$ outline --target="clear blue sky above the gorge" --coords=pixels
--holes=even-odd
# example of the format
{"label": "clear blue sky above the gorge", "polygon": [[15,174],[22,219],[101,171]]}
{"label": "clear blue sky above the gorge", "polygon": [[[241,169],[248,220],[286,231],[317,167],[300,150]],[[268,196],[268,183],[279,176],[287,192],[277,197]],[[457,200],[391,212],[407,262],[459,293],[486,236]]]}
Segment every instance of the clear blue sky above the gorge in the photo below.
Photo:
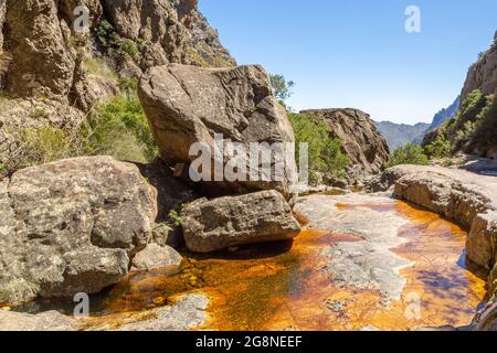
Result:
{"label": "clear blue sky above the gorge", "polygon": [[[408,6],[421,33],[406,33]],[[239,64],[296,82],[292,108],[360,108],[430,121],[497,30],[496,0],[200,0]]]}

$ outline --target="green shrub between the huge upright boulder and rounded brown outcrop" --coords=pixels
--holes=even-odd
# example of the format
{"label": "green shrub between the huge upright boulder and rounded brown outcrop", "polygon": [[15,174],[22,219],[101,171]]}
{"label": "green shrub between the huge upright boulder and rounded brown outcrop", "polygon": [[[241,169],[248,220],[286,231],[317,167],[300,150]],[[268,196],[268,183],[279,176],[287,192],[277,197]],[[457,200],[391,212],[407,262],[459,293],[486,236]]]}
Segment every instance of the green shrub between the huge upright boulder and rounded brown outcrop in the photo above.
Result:
{"label": "green shrub between the huge upright boulder and rounded brown outcrop", "polygon": [[319,182],[319,174],[330,180],[342,178],[349,163],[348,157],[342,151],[339,140],[329,136],[325,124],[316,124],[313,117],[299,114],[288,114],[295,132],[296,161],[299,163],[298,143],[308,143],[309,181],[313,184]]}

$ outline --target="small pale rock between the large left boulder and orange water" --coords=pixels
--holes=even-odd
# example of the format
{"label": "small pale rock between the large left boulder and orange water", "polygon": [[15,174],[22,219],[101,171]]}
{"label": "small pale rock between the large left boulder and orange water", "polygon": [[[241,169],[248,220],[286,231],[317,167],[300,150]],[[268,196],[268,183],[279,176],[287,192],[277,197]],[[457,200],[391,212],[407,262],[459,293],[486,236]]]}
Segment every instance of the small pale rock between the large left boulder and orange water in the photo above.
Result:
{"label": "small pale rock between the large left boulder and orange water", "polygon": [[172,247],[149,244],[135,256],[133,266],[144,271],[162,267],[179,268],[182,259]]}

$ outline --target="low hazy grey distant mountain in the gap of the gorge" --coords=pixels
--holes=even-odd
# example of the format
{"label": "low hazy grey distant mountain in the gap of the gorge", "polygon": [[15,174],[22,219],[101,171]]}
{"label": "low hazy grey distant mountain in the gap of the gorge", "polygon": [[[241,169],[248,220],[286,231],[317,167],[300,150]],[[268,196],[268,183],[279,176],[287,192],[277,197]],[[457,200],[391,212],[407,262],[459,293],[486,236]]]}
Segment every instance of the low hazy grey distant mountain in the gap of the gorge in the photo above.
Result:
{"label": "low hazy grey distant mountain in the gap of the gorge", "polygon": [[394,124],[391,121],[376,122],[378,130],[387,139],[390,151],[398,147],[408,143],[420,145],[426,130],[431,127],[430,124],[420,122],[416,125]]}

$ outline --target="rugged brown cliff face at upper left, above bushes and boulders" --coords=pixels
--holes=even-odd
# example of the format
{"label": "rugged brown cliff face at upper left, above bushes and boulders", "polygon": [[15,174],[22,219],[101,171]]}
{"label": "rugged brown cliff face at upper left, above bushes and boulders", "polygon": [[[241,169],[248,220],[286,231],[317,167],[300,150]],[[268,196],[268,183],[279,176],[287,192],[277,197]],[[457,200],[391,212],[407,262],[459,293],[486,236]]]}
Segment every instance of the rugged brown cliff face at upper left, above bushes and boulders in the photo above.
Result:
{"label": "rugged brown cliff face at upper left, above bushes and boulders", "polygon": [[3,50],[13,58],[7,75],[11,94],[66,97],[77,84],[73,79],[81,64],[76,49],[96,47],[98,35],[104,35],[75,32],[74,10],[81,4],[89,10],[87,31],[107,21],[121,41],[136,46],[139,57],[134,57],[135,63],[126,56],[119,61],[128,61],[138,71],[168,62],[234,65],[215,30],[199,13],[195,0],[8,0],[0,4],[0,28],[6,18],[2,33],[7,33],[6,39],[0,38],[0,49],[6,44]]}

